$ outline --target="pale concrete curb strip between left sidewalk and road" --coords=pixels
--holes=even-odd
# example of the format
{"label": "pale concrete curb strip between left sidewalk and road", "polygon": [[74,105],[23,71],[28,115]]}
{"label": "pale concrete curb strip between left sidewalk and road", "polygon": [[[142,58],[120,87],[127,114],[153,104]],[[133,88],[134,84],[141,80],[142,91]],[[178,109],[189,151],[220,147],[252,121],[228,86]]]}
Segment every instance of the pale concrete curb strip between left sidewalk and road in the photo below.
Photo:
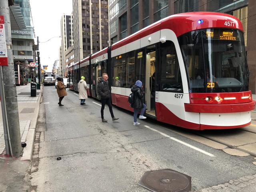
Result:
{"label": "pale concrete curb strip between left sidewalk and road", "polygon": [[22,158],[20,158],[21,161],[32,160],[32,154],[33,154],[34,143],[35,143],[36,124],[37,124],[40,101],[41,101],[42,91],[43,91],[42,89],[43,89],[43,86],[41,86],[40,94],[38,96],[39,102],[37,102],[38,103],[38,109],[36,110],[36,117],[34,118],[34,120],[31,120],[31,122],[30,122],[28,134],[27,134],[27,137],[26,137],[27,146],[23,149]]}

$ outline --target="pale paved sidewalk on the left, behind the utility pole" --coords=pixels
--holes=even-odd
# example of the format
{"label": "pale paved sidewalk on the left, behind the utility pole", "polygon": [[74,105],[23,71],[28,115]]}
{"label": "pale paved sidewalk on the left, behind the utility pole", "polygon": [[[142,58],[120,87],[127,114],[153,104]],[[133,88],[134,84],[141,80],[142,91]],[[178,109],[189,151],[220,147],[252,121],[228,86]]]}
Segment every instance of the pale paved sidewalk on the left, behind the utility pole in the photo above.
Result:
{"label": "pale paved sidewalk on the left, behind the utility pole", "polygon": [[[41,90],[36,90],[36,97],[30,96],[30,84],[25,86],[16,86],[18,112],[20,120],[21,142],[26,142],[27,146],[23,148],[21,160],[31,160],[34,144],[34,135],[36,121],[38,117]],[[0,108],[0,154],[5,149],[4,127],[2,119],[2,109]]]}

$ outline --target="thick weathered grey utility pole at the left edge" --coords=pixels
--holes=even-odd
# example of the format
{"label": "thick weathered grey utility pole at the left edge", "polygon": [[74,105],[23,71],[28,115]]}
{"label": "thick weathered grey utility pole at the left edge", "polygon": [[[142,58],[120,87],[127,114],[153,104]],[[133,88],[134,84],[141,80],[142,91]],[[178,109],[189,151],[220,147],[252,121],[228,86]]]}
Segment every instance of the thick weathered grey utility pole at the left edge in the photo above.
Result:
{"label": "thick weathered grey utility pole at the left edge", "polygon": [[0,71],[2,74],[1,82],[4,83],[2,85],[4,92],[3,97],[1,98],[1,105],[6,107],[5,111],[2,111],[3,117],[4,112],[6,114],[6,117],[5,119],[3,118],[3,121],[6,121],[8,130],[8,133],[5,132],[4,134],[8,134],[8,141],[10,144],[10,151],[6,151],[6,153],[13,157],[18,157],[22,154],[22,147],[20,140],[20,121],[12,55],[12,38],[8,0],[0,0],[0,15],[4,16],[4,28],[8,56],[8,66],[1,66],[2,70]]}

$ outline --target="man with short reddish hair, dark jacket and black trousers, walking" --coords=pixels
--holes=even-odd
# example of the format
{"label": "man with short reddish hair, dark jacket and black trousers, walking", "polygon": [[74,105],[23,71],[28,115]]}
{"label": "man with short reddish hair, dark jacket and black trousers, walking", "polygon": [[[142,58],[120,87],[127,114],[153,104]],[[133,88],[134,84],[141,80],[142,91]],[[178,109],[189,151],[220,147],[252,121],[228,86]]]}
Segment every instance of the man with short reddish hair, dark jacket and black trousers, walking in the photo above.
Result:
{"label": "man with short reddish hair, dark jacket and black trousers, walking", "polygon": [[98,78],[98,92],[101,97],[101,118],[102,122],[108,122],[108,120],[104,119],[104,108],[105,104],[108,105],[112,121],[118,120],[119,118],[115,118],[113,110],[112,110],[112,105],[111,105],[111,95],[110,95],[110,90],[108,87],[108,74],[104,73],[102,74],[102,78]]}

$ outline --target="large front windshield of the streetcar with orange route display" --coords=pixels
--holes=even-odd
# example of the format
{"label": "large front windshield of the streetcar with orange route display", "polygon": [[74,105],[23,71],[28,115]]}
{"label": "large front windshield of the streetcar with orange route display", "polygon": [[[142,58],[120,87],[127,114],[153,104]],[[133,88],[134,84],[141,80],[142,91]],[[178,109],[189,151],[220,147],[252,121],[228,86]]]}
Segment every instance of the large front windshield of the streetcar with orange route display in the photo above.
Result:
{"label": "large front windshield of the streetcar with orange route display", "polygon": [[178,38],[189,92],[248,90],[244,36],[234,29],[203,29]]}

